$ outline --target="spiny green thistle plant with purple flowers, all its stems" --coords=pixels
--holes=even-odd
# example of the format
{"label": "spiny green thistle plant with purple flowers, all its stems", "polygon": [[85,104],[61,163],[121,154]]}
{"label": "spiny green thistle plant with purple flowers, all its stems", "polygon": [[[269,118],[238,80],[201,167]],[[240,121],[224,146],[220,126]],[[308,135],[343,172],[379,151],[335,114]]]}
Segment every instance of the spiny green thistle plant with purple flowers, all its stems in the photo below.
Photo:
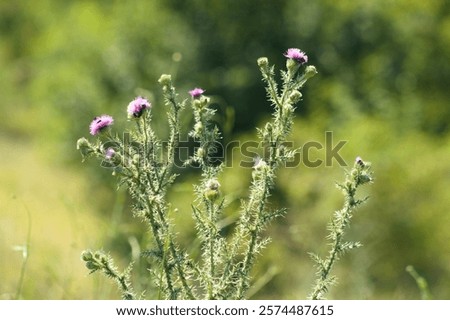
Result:
{"label": "spiny green thistle plant with purple flowers, all its stems", "polygon": [[[152,112],[159,108],[144,97],[137,97],[127,107],[131,129],[129,141],[122,141],[112,133],[114,120],[109,115],[96,117],[90,125],[94,142],[81,138],[77,142],[83,160],[96,157],[102,166],[109,167],[118,177],[119,186],[126,187],[132,200],[133,215],[147,226],[151,243],[142,255],[152,259],[149,281],[157,288],[154,297],[159,299],[245,299],[252,284],[252,269],[258,255],[268,244],[264,234],[273,219],[286,214],[286,209],[273,209],[269,198],[275,186],[277,170],[294,157],[298,150],[287,145],[292,130],[296,104],[301,100],[300,90],[317,71],[306,65],[307,55],[299,49],[289,49],[285,53],[286,70],[281,71],[281,86],[275,80],[274,67],[267,58],[258,59],[258,66],[266,85],[268,101],[273,106],[273,115],[262,128],[258,129],[260,145],[267,152],[254,161],[248,197],[241,202],[238,218],[231,232],[224,232],[222,219],[227,205],[226,196],[221,192],[220,175],[223,164],[213,161],[221,132],[213,124],[215,110],[205,90],[195,88],[189,91],[190,99],[179,99],[170,75],[162,75],[159,84],[166,105],[170,133],[167,143],[163,143],[152,128]],[[193,113],[194,125],[189,136],[197,146],[185,166],[195,165],[201,171],[201,178],[194,186],[194,199],[186,204],[183,211],[190,211],[196,225],[196,235],[200,240],[201,254],[193,257],[182,248],[174,231],[171,205],[167,193],[176,181],[175,158],[181,135],[180,113],[189,109]],[[362,160],[361,160],[362,161]],[[339,235],[330,236],[336,253],[327,263],[326,275],[318,287],[317,298],[328,287],[328,269],[331,269],[338,254],[347,244],[341,243],[341,233],[348,225],[350,213],[360,204],[355,200],[356,188],[369,179],[368,165],[358,164],[350,173],[356,180],[342,185],[346,190],[346,206],[333,222],[333,230]],[[355,171],[356,170],[356,171]],[[362,173],[365,172],[363,175]],[[366,178],[364,178],[366,177]],[[361,180],[362,179],[362,180]],[[369,179],[370,180],[370,179]],[[338,215],[338,214],[337,214]],[[131,283],[133,265],[119,271],[109,254],[103,251],[87,250],[82,260],[91,273],[101,272],[117,283],[124,299],[144,296],[136,293]],[[328,261],[328,260],[326,260]],[[321,284],[322,284],[321,282]]]}

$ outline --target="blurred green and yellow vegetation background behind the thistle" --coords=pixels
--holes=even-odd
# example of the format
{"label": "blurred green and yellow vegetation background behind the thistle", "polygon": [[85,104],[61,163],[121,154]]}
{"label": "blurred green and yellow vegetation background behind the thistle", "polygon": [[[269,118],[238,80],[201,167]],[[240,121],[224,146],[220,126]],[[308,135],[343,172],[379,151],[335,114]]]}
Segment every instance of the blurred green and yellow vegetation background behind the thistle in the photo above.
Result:
{"label": "blurred green and yellow vegetation background behind the thistle", "polygon": [[[110,172],[95,160],[81,164],[76,140],[102,113],[125,128],[137,94],[153,102],[164,136],[162,73],[182,97],[200,86],[218,101],[226,141],[254,139],[270,116],[256,59],[284,68],[289,47],[307,52],[319,71],[297,111],[295,144],[324,143],[332,131],[335,142],[348,141],[345,161],[372,161],[376,177],[348,234],[364,247],[340,261],[328,297],[419,299],[405,271],[413,265],[435,299],[450,299],[447,0],[1,1],[0,297],[119,298],[101,276],[87,276],[80,252],[103,248],[125,266],[145,247],[145,228]],[[247,194],[250,173],[238,161],[221,177],[229,212]],[[307,296],[307,252],[326,251],[344,169],[333,162],[280,171],[272,203],[288,215],[270,227],[252,299]],[[198,245],[189,215],[197,178],[187,172],[171,194],[179,242],[190,250]]]}

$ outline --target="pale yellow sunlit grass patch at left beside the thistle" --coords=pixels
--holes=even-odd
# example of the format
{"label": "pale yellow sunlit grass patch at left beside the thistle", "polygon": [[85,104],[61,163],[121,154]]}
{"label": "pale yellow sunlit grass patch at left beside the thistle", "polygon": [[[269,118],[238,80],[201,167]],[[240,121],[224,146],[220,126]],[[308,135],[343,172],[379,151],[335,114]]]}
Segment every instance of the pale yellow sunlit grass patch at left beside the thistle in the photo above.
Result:
{"label": "pale yellow sunlit grass patch at left beside the thistle", "polygon": [[0,137],[0,154],[0,297],[13,299],[19,291],[29,227],[17,298],[110,297],[109,284],[88,278],[80,261],[82,248],[97,244],[107,225],[89,205],[95,200],[85,197],[85,177],[43,162],[33,145],[21,140]]}

